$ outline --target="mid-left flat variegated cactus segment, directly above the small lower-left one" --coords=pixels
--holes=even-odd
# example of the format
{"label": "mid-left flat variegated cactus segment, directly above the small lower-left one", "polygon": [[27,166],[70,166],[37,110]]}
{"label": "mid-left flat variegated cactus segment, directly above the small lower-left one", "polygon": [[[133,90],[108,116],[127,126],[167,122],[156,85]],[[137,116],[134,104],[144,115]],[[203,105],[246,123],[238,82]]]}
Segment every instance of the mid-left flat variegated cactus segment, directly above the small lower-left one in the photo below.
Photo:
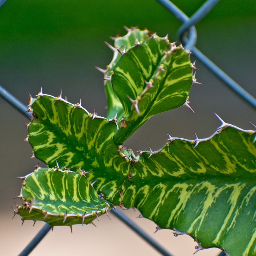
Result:
{"label": "mid-left flat variegated cactus segment, directly above the small lower-left one", "polygon": [[51,168],[63,166],[80,172],[78,166],[90,172],[87,178],[90,182],[97,180],[97,191],[118,205],[118,188],[131,168],[131,159],[125,154],[121,157],[113,142],[116,118],[102,118],[80,103],[71,104],[42,92],[28,107],[35,118],[27,125],[26,140],[34,156]]}

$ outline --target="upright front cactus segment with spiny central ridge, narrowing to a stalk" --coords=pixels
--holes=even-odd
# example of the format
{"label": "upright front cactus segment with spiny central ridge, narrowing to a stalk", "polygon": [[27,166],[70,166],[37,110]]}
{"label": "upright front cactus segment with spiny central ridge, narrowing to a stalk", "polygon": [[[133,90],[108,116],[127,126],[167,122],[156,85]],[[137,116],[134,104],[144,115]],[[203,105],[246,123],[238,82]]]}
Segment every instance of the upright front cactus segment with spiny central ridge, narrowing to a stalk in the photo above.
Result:
{"label": "upright front cactus segment with spiny central ridge, narrowing to a stalk", "polygon": [[156,34],[123,54],[111,76],[124,109],[114,142],[122,145],[151,116],[188,105],[193,68],[188,51]]}

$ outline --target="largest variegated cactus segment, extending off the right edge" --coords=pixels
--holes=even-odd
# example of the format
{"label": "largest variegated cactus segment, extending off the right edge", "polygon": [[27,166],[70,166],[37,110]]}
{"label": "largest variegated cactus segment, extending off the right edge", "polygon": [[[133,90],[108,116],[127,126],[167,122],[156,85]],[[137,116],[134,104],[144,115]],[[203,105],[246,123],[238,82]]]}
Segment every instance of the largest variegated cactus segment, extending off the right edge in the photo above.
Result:
{"label": "largest variegated cactus segment, extending off the right edge", "polygon": [[150,158],[143,152],[132,183],[120,188],[123,206],[136,207],[159,228],[190,234],[202,248],[255,256],[255,133],[222,121],[209,138],[173,138]]}

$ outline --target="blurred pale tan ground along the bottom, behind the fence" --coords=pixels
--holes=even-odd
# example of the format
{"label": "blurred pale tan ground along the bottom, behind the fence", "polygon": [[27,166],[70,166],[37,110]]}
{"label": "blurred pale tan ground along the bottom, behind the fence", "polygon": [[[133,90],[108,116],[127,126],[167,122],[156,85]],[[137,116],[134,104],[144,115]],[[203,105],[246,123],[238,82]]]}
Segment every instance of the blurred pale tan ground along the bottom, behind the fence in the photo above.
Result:
{"label": "blurred pale tan ground along the bottom, behind the fence", "polygon": [[[124,211],[123,211],[124,212]],[[173,256],[190,256],[195,252],[196,243],[187,235],[174,237],[171,230],[159,230],[155,234],[155,223],[144,218],[136,218],[138,211],[129,209],[125,211],[137,225],[141,226],[155,240],[161,243]],[[1,253],[0,255],[15,256],[35,236],[44,225],[43,222],[26,220],[21,226],[20,216],[12,220],[12,209],[1,214]],[[97,225],[74,225],[73,234],[69,227],[55,227],[53,232],[39,243],[31,252],[31,256],[45,255],[161,255],[121,221],[110,213],[111,220],[102,216]],[[216,256],[221,251],[217,248],[199,251],[197,256]]]}

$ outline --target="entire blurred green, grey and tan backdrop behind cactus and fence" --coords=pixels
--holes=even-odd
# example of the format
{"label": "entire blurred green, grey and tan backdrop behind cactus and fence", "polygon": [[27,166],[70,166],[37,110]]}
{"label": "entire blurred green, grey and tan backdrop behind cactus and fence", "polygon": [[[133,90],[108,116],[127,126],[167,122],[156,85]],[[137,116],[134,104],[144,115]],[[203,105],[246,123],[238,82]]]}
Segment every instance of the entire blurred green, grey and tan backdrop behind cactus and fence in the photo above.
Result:
{"label": "entire blurred green, grey and tan backdrop behind cactus and fence", "polygon": [[[203,0],[173,1],[191,16]],[[67,95],[71,103],[82,98],[82,105],[90,112],[95,108],[106,115],[106,100],[102,74],[94,66],[105,68],[112,59],[111,50],[104,41],[113,44],[109,36],[123,26],[138,26],[169,34],[177,41],[176,31],[181,23],[155,0],[8,0],[0,8],[0,84],[24,104],[28,93],[36,95],[42,86],[44,93]],[[255,0],[221,0],[211,12],[196,25],[196,47],[223,69],[244,89],[256,97]],[[194,61],[194,57],[191,59]],[[193,85],[190,106],[195,114],[182,107],[151,118],[136,131],[126,146],[134,150],[157,150],[166,143],[167,133],[173,137],[199,138],[211,135],[219,121],[244,129],[251,129],[249,121],[256,124],[255,110],[231,92],[199,61],[196,78],[204,85]],[[17,255],[43,223],[12,220],[18,199],[21,180],[34,170],[38,161],[32,149],[23,142],[27,135],[24,124],[28,120],[0,98],[0,200],[1,200],[1,255]],[[192,255],[195,243],[188,236],[174,237],[170,230],[156,234],[155,224],[136,218],[133,209],[124,212],[133,221],[158,240],[174,256]],[[159,255],[113,215],[111,220],[102,216],[92,225],[55,227],[31,255]],[[207,249],[197,255],[218,255],[218,249]]]}

